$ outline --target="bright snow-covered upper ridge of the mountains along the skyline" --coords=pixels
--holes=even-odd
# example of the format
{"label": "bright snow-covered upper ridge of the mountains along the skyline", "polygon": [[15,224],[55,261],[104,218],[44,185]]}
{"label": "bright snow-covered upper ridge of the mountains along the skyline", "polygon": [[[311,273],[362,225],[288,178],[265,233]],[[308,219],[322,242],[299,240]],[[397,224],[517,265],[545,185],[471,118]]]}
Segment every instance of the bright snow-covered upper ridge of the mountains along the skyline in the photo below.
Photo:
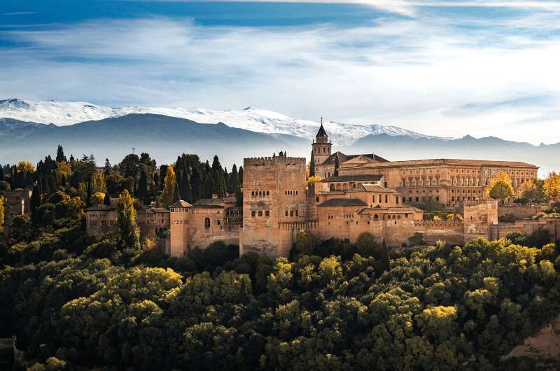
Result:
{"label": "bright snow-covered upper ridge of the mountains along the skyline", "polygon": [[[54,123],[72,125],[83,121],[102,120],[125,116],[129,113],[154,113],[177,118],[187,118],[197,123],[225,123],[230,127],[262,133],[290,134],[305,139],[313,139],[320,123],[312,120],[300,120],[290,116],[247,107],[243,110],[213,111],[199,108],[181,107],[106,107],[87,102],[60,101],[22,101],[21,99],[0,100],[0,118],[34,123]],[[395,126],[385,125],[351,125],[325,122],[333,144],[349,145],[368,134],[387,134],[391,137],[406,136],[414,139],[429,137]]]}

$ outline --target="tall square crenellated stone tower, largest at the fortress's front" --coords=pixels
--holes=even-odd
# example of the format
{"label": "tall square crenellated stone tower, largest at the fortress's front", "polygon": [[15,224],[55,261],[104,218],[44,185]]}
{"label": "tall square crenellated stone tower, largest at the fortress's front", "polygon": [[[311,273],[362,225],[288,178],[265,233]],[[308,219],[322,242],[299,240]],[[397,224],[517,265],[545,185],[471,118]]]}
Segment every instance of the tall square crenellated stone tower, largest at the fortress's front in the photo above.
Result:
{"label": "tall square crenellated stone tower, largest at the fortress's front", "polygon": [[288,256],[295,230],[290,227],[305,220],[305,158],[246,158],[243,169],[239,253]]}

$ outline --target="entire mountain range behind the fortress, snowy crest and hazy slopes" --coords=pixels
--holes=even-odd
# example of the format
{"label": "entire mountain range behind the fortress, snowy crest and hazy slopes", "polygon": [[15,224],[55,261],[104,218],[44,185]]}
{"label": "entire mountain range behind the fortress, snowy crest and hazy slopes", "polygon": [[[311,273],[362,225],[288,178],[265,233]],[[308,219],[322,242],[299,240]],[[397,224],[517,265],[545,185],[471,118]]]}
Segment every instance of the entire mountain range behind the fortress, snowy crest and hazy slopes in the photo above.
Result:
{"label": "entire mountain range behind the fortress, snowy crest and hazy slopes", "polygon": [[[47,125],[48,124],[48,125]],[[54,155],[57,144],[67,154],[93,153],[118,161],[136,148],[158,162],[197,153],[202,160],[215,154],[238,165],[244,157],[288,155],[309,160],[310,142],[320,124],[253,109],[211,111],[122,107],[112,109],[85,102],[0,100],[0,163],[37,161]],[[333,150],[375,153],[388,160],[469,158],[516,160],[540,167],[540,175],[560,168],[560,144],[505,141],[497,137],[460,139],[432,137],[400,127],[325,123]]]}

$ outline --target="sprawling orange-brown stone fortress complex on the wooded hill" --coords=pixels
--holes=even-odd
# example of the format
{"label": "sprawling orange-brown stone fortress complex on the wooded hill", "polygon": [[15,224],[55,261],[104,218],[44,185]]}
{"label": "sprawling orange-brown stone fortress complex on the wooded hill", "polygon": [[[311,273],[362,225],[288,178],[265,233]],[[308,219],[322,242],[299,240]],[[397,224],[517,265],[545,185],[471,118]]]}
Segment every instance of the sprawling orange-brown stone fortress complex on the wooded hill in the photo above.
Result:
{"label": "sprawling orange-brown stone fortress complex on the wooded hill", "polygon": [[[542,226],[558,239],[560,223],[498,223],[498,202],[488,200],[486,185],[499,172],[512,179],[514,190],[537,177],[538,167],[524,162],[486,160],[388,161],[377,155],[331,152],[323,125],[312,144],[315,174],[307,183],[305,158],[272,156],[244,159],[243,207],[235,197],[214,197],[169,209],[139,210],[142,238],[160,237],[172,256],[184,256],[214,241],[239,244],[271,257],[288,256],[297,232],[320,239],[354,242],[370,232],[391,247],[403,246],[416,232],[428,244],[437,240],[465,244],[476,237],[504,237],[512,228],[531,232]],[[429,197],[463,221],[423,221],[419,205]],[[86,210],[87,233],[108,232],[116,221],[114,205]]]}

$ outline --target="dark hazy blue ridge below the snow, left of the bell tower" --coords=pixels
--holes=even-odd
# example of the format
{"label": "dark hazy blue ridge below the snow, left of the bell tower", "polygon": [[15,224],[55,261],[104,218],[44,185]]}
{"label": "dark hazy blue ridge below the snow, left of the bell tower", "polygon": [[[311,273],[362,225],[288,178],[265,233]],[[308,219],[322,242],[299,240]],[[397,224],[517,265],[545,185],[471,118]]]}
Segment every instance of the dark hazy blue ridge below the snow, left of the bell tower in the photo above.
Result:
{"label": "dark hazy blue ridge below the snow, left of the bell tower", "polygon": [[287,134],[251,132],[224,123],[200,124],[149,113],[130,113],[68,126],[0,119],[1,164],[23,159],[36,162],[47,154],[53,155],[58,144],[68,156],[93,153],[98,164],[105,158],[120,161],[127,153],[136,151],[150,153],[158,163],[172,162],[181,153],[195,153],[203,161],[218,155],[222,163],[241,165],[242,153],[251,157],[272,155],[272,151],[294,154],[308,147],[309,141]]}

